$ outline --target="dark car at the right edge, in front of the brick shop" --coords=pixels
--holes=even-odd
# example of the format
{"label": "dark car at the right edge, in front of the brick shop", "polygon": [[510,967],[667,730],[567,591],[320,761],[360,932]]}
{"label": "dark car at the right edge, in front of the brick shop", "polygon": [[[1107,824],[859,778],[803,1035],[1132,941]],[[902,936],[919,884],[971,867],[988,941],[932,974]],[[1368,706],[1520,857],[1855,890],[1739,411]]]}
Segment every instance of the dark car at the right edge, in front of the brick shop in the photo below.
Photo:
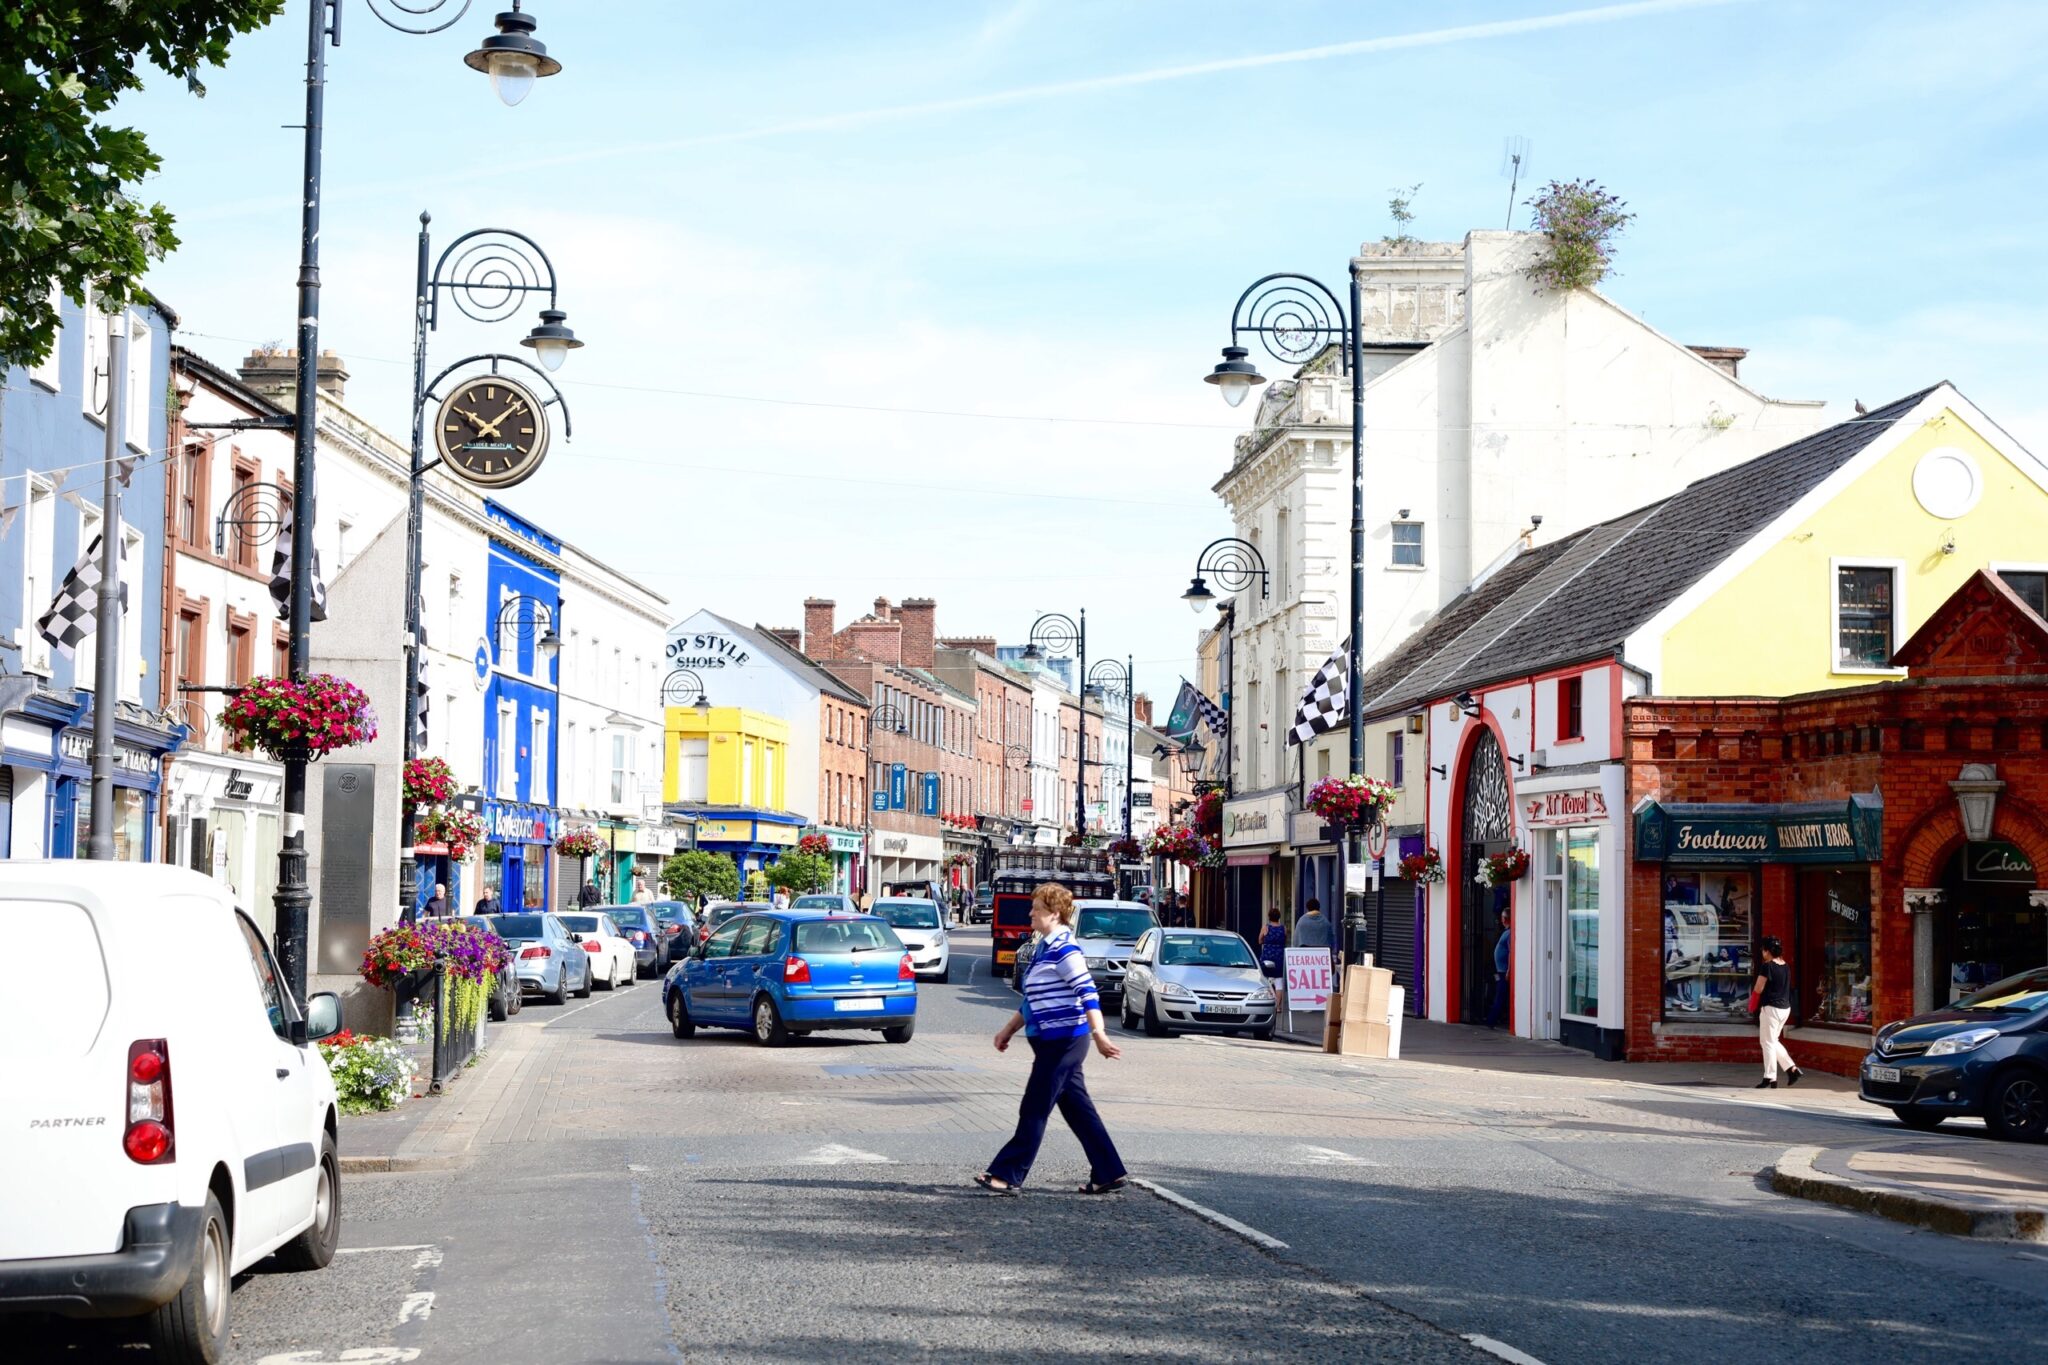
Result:
{"label": "dark car at the right edge, in front of the brick shop", "polygon": [[2048,1136],[2048,966],[1878,1029],[1864,1099],[1907,1128],[1978,1115],[1999,1138]]}

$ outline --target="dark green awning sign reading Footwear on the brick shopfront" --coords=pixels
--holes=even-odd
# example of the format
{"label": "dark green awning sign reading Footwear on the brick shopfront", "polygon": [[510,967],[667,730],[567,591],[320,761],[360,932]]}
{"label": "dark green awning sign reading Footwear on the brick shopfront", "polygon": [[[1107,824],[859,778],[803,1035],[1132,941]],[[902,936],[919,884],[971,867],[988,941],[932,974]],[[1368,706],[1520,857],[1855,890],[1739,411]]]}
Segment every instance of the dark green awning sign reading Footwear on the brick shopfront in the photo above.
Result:
{"label": "dark green awning sign reading Footwear on the brick shopfront", "polygon": [[1884,798],[1645,802],[1636,860],[1675,864],[1874,864],[1884,843]]}

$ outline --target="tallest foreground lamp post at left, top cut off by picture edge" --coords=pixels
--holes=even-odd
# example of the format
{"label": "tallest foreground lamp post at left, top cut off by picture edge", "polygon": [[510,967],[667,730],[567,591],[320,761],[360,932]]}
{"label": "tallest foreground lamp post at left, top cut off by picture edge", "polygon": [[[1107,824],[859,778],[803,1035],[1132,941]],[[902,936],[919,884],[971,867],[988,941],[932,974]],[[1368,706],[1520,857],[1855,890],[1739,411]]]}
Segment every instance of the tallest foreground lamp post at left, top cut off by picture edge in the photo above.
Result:
{"label": "tallest foreground lamp post at left, top cut off by picture edge", "polygon": [[[449,29],[469,12],[469,0],[365,0],[371,14],[387,29],[410,35],[428,35]],[[451,10],[453,6],[453,10]],[[436,18],[449,12],[449,18]],[[500,72],[492,72],[500,98],[524,94],[518,86],[522,65],[520,53],[530,59],[532,78],[553,76],[561,63],[547,55],[547,49],[532,37],[535,23],[522,14],[518,0],[512,4],[512,23],[498,16],[498,39],[483,39],[477,53],[502,53]],[[512,39],[512,41],[506,41]],[[328,113],[328,45],[342,41],[342,0],[307,0],[305,6],[305,131],[301,176],[299,176],[299,276],[297,276],[297,340],[299,375],[293,395],[293,448],[291,483],[297,495],[293,508],[295,534],[291,538],[291,596],[287,620],[287,669],[293,677],[305,677],[313,663],[313,528],[317,526],[315,471],[319,434],[319,201],[322,201],[322,147],[326,143]],[[475,57],[477,53],[471,53]],[[467,59],[465,59],[467,61]],[[475,65],[471,61],[471,65]],[[489,72],[489,63],[483,68]],[[506,84],[510,76],[512,84]],[[530,86],[530,82],[528,82]],[[414,442],[418,448],[418,440]],[[412,579],[410,583],[416,583]],[[414,604],[408,606],[410,624],[416,620],[418,589],[410,591]],[[418,632],[414,630],[414,639]],[[408,657],[412,655],[408,641]],[[408,663],[408,712],[416,706],[418,667]],[[412,720],[412,716],[408,716]],[[412,743],[408,722],[408,743]],[[313,905],[313,888],[305,880],[305,757],[285,759],[285,819],[276,849],[276,950],[285,968],[285,982],[297,999],[305,999],[307,968],[307,911]],[[410,821],[403,831],[403,845],[412,847]]]}

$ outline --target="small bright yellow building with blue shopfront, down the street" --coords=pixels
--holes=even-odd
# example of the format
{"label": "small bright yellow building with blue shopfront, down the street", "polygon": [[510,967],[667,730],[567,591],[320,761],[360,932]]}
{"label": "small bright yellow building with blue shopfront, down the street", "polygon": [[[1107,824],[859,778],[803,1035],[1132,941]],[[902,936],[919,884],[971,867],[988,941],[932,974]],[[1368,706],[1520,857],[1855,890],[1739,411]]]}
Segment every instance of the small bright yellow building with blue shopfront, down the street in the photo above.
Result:
{"label": "small bright yellow building with blue shopfront, down the street", "polygon": [[729,853],[745,878],[803,837],[788,800],[788,722],[743,706],[670,706],[662,798],[696,817],[696,847]]}

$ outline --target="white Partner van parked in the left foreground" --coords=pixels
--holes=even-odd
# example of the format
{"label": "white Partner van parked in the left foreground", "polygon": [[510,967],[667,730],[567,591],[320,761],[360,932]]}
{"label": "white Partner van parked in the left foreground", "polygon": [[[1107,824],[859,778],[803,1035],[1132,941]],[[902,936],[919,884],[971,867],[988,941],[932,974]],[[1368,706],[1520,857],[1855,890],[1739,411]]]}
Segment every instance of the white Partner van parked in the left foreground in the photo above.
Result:
{"label": "white Partner van parked in the left foreground", "polygon": [[0,933],[0,1314],[141,1318],[152,1359],[219,1361],[233,1277],[340,1240],[340,1001],[291,997],[221,882],[164,864],[8,862]]}

